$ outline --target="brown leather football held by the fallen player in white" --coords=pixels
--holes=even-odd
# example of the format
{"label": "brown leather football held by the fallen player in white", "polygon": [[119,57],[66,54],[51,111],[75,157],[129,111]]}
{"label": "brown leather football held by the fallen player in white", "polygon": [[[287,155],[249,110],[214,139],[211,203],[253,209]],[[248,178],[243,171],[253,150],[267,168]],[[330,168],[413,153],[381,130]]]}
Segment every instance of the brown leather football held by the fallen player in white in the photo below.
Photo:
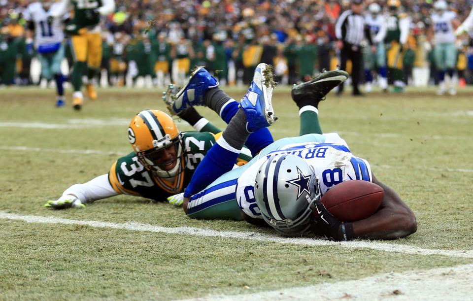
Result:
{"label": "brown leather football held by the fallen player in white", "polygon": [[376,212],[383,198],[381,186],[368,181],[351,180],[331,188],[320,201],[340,222],[354,222]]}

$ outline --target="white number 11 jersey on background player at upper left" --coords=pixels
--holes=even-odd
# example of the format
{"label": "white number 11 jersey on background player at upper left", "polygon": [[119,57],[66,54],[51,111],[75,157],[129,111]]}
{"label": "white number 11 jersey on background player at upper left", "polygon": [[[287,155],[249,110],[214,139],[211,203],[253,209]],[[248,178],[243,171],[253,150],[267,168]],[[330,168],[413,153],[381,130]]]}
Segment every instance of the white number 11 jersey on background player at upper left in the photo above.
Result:
{"label": "white number 11 jersey on background player at upper left", "polygon": [[57,44],[64,40],[62,18],[53,18],[52,22],[48,23],[49,13],[58,5],[59,2],[53,3],[48,11],[44,10],[40,2],[28,5],[28,19],[34,22],[34,47],[36,49],[40,45]]}

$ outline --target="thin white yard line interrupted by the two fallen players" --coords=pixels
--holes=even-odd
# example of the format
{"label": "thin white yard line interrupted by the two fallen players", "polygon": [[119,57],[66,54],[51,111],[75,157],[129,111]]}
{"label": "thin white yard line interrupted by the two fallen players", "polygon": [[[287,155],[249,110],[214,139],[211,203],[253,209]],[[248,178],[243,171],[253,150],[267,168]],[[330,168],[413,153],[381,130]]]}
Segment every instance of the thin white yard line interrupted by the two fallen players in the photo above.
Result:
{"label": "thin white yard line interrupted by the two fallen players", "polygon": [[[119,155],[124,156],[127,152],[112,152],[112,151],[101,151],[93,149],[55,149],[55,148],[39,148],[39,147],[28,147],[28,146],[6,146],[0,145],[0,150],[13,150],[13,151],[27,151],[27,152],[49,152],[49,153],[62,153],[62,154],[99,154],[99,155]],[[372,165],[377,168],[389,168],[389,169],[418,169],[418,170],[432,170],[432,171],[451,171],[451,172],[473,172],[473,169],[468,168],[449,168],[449,167],[422,167],[422,166],[390,166],[390,165]]]}

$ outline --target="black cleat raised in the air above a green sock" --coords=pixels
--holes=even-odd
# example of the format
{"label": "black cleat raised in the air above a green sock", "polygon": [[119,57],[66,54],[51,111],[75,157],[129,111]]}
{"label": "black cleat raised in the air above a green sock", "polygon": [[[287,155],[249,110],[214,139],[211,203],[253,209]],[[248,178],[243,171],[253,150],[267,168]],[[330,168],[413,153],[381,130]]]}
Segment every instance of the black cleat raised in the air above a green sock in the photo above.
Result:
{"label": "black cleat raised in the air above a green sock", "polygon": [[325,100],[325,96],[347,78],[348,73],[343,70],[324,71],[309,81],[294,85],[291,90],[292,100],[298,103],[309,99],[317,107],[319,101]]}

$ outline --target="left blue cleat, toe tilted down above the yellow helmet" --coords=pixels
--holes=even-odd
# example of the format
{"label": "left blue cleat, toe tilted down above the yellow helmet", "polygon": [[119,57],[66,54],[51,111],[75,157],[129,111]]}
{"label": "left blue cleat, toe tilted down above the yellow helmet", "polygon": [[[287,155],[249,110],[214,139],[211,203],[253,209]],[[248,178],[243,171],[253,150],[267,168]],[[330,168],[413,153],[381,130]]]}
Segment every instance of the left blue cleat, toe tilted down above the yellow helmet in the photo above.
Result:
{"label": "left blue cleat, toe tilted down above the yellow helmet", "polygon": [[168,109],[177,115],[193,105],[203,105],[203,96],[210,88],[218,86],[218,81],[204,67],[196,67],[187,83],[175,96],[170,97]]}

